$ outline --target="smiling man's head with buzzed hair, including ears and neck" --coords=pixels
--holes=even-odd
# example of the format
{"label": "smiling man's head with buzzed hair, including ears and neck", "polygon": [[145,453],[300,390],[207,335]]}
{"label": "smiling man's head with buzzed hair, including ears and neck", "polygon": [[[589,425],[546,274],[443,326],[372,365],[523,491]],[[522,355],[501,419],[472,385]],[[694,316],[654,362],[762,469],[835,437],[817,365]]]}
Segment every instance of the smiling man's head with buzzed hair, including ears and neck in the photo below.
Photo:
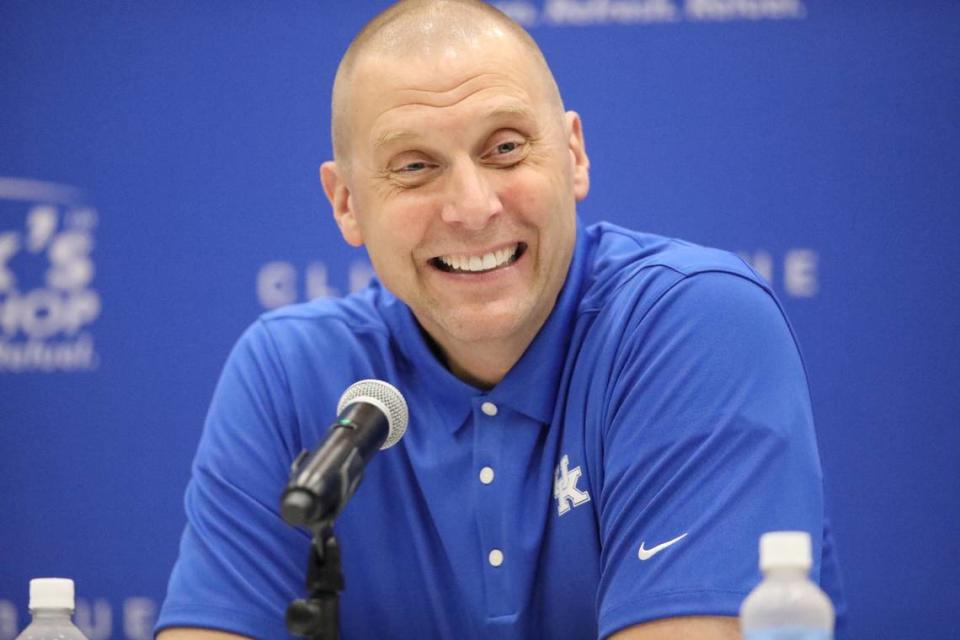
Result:
{"label": "smiling man's head with buzzed hair, including ears and neck", "polygon": [[374,22],[333,104],[337,159],[321,177],[344,238],[454,374],[493,386],[567,275],[589,185],[579,117],[526,33],[436,3]]}

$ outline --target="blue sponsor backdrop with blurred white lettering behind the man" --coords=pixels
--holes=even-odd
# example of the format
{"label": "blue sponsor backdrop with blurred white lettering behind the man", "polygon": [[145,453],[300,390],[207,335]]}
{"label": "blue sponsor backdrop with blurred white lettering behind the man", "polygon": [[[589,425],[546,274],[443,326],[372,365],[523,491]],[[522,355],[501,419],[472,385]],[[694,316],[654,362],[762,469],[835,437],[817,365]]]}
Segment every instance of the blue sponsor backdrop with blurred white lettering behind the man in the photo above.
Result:
{"label": "blue sponsor backdrop with blurred white lettering behind the man", "polygon": [[[43,575],[92,639],[149,637],[232,343],[369,278],[317,167],[383,4],[0,4],[0,640]],[[783,300],[851,637],[956,637],[960,5],[502,6],[583,116],[583,218],[740,252]]]}

